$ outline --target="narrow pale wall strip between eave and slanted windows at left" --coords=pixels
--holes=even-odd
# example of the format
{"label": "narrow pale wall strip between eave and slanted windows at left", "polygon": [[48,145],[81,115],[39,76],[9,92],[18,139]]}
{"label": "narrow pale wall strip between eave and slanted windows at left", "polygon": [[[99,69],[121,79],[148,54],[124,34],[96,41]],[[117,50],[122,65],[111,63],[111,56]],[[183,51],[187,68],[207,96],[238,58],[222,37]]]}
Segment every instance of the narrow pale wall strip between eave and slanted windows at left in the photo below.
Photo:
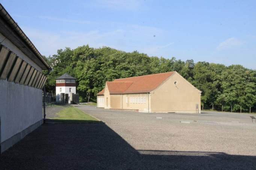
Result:
{"label": "narrow pale wall strip between eave and slanted windows at left", "polygon": [[7,39],[5,36],[3,36],[1,33],[0,33],[0,42],[2,45],[4,45],[5,47],[9,48],[12,52],[17,54],[17,56],[19,56],[21,59],[25,60],[35,69],[42,72],[42,69],[36,63],[34,63],[29,57],[27,57],[18,47],[12,44],[12,42],[9,39]]}

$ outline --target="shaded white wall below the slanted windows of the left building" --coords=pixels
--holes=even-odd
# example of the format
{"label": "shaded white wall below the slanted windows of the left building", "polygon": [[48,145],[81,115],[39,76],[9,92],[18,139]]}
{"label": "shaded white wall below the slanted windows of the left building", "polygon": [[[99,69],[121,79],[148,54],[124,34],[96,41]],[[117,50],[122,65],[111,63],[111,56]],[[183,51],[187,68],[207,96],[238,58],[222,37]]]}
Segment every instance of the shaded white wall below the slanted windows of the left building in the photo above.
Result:
{"label": "shaded white wall below the slanted windows of the left building", "polygon": [[42,90],[0,80],[1,142],[43,119]]}

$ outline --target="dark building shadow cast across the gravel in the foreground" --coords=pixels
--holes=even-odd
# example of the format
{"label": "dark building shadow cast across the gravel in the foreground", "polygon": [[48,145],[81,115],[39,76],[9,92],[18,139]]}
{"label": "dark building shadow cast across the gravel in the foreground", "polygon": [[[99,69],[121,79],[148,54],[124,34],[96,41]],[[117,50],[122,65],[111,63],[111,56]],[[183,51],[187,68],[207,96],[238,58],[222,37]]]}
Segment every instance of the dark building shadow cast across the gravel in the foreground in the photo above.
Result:
{"label": "dark building shadow cast across the gravel in the foreground", "polygon": [[[171,142],[171,141],[170,141]],[[46,123],[0,157],[0,169],[255,169],[256,156],[135,150],[104,123]]]}

